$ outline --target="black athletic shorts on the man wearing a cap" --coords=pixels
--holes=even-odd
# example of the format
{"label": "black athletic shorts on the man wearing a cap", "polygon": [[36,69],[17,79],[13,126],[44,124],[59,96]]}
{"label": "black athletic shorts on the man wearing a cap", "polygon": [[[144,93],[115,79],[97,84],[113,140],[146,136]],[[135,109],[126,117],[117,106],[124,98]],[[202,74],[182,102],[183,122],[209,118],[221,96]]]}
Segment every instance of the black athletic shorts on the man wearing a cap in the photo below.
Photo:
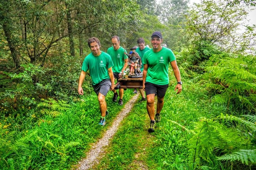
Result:
{"label": "black athletic shorts on the man wearing a cap", "polygon": [[168,86],[169,86],[168,84],[157,85],[157,84],[153,84],[151,82],[146,81],[145,82],[146,95],[155,94],[155,95],[157,95],[157,97],[163,98],[165,96]]}

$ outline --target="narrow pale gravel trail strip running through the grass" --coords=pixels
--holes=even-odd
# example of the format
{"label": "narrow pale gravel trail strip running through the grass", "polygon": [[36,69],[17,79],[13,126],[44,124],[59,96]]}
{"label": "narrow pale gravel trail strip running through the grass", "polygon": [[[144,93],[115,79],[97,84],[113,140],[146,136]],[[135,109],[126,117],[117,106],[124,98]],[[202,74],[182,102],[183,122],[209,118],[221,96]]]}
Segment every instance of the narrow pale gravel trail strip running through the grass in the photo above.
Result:
{"label": "narrow pale gravel trail strip running through the grass", "polygon": [[[108,130],[103,134],[103,137],[99,139],[97,142],[92,144],[91,149],[86,153],[86,158],[82,159],[77,165],[77,170],[87,170],[91,169],[92,166],[99,163],[99,160],[105,155],[105,149],[109,145],[109,141],[112,139],[114,134],[118,130],[118,126],[127,113],[131,111],[134,103],[138,99],[140,94],[134,95],[133,98],[129,100],[123,107],[122,111],[116,116],[113,120],[112,125],[108,128]],[[143,165],[142,165],[143,167]]]}

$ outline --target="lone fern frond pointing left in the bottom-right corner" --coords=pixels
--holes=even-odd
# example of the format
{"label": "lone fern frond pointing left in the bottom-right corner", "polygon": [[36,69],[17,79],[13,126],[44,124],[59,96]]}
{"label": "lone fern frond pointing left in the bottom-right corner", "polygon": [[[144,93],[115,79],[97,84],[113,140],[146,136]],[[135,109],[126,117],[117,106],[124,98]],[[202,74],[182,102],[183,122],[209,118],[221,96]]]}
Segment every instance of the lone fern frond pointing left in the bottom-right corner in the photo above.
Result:
{"label": "lone fern frond pointing left in the bottom-right corner", "polygon": [[238,152],[231,154],[226,154],[220,157],[217,157],[218,160],[228,160],[228,161],[241,161],[243,164],[248,165],[249,162],[252,164],[256,163],[256,149],[254,150],[244,150],[240,149]]}

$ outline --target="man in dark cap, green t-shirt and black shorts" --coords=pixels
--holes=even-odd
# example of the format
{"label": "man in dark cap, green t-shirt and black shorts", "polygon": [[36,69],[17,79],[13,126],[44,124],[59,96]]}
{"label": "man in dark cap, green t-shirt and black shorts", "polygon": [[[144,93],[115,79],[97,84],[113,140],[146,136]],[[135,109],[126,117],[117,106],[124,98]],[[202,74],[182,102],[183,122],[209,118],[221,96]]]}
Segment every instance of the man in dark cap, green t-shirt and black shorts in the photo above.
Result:
{"label": "man in dark cap, green t-shirt and black shorts", "polygon": [[[147,95],[147,111],[150,118],[149,132],[155,131],[156,122],[161,120],[160,112],[164,106],[164,96],[169,86],[168,67],[171,64],[174,76],[177,80],[175,91],[177,94],[182,90],[181,75],[176,63],[176,58],[171,49],[163,47],[162,33],[153,32],[151,36],[152,49],[143,56],[143,89]],[[155,95],[157,96],[155,117]]]}

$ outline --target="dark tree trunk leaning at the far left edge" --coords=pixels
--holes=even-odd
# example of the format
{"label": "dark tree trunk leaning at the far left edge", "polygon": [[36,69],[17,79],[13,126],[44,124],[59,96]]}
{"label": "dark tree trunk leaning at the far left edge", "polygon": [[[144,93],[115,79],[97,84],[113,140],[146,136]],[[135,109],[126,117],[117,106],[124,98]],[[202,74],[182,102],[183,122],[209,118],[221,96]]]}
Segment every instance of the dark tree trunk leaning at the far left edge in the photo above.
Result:
{"label": "dark tree trunk leaning at the far left edge", "polygon": [[19,52],[16,50],[16,46],[15,46],[13,40],[12,40],[12,33],[10,31],[8,19],[6,19],[6,22],[4,22],[4,24],[3,24],[3,30],[4,30],[4,33],[5,33],[6,40],[8,42],[8,46],[9,46],[10,51],[11,51],[13,62],[15,63],[15,67],[19,68],[20,67],[20,62],[21,62],[20,59],[19,59]]}

